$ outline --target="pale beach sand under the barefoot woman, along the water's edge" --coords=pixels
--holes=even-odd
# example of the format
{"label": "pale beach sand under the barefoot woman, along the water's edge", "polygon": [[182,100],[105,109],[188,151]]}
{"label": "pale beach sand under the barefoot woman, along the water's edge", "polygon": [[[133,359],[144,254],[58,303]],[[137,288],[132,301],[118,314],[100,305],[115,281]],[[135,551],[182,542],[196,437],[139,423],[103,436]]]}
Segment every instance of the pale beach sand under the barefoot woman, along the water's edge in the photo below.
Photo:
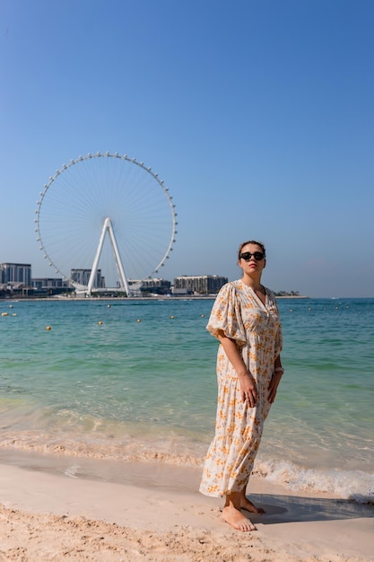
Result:
{"label": "pale beach sand under the barefoot woman, along the water's edge", "polygon": [[257,531],[222,522],[200,469],[0,449],[0,560],[363,562],[374,506],[251,480]]}

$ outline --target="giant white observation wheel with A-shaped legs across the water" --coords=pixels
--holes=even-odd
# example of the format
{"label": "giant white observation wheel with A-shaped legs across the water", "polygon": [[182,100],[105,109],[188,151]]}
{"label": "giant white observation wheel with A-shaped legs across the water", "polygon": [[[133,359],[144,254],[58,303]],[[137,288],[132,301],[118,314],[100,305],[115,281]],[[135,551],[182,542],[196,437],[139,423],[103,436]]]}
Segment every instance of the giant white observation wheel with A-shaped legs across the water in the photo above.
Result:
{"label": "giant white observation wheel with A-shaped legs across the water", "polygon": [[126,154],[87,154],[64,164],[35,213],[44,259],[87,294],[99,285],[132,294],[164,266],[177,233],[169,189]]}

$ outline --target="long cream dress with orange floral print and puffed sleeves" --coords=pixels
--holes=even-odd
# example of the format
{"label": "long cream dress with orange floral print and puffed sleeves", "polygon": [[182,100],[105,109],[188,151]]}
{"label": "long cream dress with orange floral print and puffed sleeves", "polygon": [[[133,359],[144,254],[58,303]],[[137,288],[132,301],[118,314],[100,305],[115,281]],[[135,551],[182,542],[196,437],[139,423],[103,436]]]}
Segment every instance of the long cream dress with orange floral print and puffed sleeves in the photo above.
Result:
{"label": "long cream dress with orange floral print and puffed sleeves", "polygon": [[242,281],[224,285],[213,304],[206,329],[234,339],[252,373],[258,391],[257,406],[241,399],[236,371],[222,345],[217,354],[218,400],[215,435],[206,455],[200,492],[226,496],[248,484],[269,413],[268,384],[274,361],[282,349],[282,331],[274,293],[265,289],[265,304]]}

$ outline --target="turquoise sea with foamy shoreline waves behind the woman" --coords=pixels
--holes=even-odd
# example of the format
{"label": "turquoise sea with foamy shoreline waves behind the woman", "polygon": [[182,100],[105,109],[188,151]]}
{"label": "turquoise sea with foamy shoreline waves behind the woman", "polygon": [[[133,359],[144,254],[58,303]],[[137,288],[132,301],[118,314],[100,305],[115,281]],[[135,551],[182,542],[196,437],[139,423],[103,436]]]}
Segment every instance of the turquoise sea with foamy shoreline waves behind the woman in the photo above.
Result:
{"label": "turquoise sea with foamy shoreline waves behind the woman", "polygon": [[[290,489],[373,502],[374,299],[278,303],[285,373],[255,471]],[[1,301],[0,457],[200,466],[216,404],[212,305]]]}

